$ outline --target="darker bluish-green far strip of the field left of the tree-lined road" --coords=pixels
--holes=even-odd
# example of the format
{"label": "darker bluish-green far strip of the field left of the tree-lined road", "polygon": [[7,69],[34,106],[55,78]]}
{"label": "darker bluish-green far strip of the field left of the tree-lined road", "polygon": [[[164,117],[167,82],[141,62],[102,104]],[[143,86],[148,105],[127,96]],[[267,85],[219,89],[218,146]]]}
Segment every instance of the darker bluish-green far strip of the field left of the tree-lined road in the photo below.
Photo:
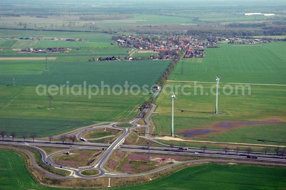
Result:
{"label": "darker bluish-green far strip of the field left of the tree-lined road", "polygon": [[[34,62],[34,61],[33,61]],[[38,62],[38,60],[37,60]],[[45,62],[43,60],[42,62]],[[25,64],[16,65],[15,72],[10,72],[9,76],[0,76],[0,83],[12,84],[13,75],[17,74],[17,84],[38,85],[38,84],[66,84],[69,85],[87,84],[100,85],[104,84],[114,86],[115,84],[124,85],[125,81],[133,84],[147,84],[152,86],[158,80],[158,77],[164,72],[169,64],[169,60],[144,60],[144,61],[118,61],[118,62],[55,62],[49,67],[49,72],[43,72],[42,75],[19,75],[19,72],[27,72]],[[1,61],[0,70],[9,67],[10,64],[19,63],[17,60]],[[8,65],[8,66],[7,66]],[[43,64],[44,68],[44,64]],[[146,69],[148,68],[148,69]],[[64,71],[64,72],[63,72]],[[138,73],[138,71],[140,71]],[[30,72],[30,71],[29,71]],[[34,71],[38,72],[38,71]],[[102,75],[104,73],[104,75]]]}

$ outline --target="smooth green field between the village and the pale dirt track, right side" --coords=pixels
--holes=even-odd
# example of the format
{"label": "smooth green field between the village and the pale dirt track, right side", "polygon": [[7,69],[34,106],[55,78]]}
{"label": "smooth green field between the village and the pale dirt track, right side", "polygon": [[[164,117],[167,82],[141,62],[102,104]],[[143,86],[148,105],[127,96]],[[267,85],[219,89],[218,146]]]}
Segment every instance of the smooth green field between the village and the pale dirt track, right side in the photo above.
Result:
{"label": "smooth green field between the village and the pale dirt track, right side", "polygon": [[286,84],[285,42],[255,45],[219,45],[206,49],[203,59],[184,59],[184,74],[179,63],[169,80]]}

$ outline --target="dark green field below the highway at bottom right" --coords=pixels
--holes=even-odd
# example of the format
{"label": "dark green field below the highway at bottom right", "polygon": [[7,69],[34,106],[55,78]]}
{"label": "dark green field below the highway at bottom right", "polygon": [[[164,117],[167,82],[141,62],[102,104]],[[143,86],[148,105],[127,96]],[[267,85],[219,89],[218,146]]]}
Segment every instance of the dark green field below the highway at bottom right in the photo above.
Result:
{"label": "dark green field below the highway at bottom right", "polygon": [[285,168],[204,164],[143,185],[115,189],[284,189]]}

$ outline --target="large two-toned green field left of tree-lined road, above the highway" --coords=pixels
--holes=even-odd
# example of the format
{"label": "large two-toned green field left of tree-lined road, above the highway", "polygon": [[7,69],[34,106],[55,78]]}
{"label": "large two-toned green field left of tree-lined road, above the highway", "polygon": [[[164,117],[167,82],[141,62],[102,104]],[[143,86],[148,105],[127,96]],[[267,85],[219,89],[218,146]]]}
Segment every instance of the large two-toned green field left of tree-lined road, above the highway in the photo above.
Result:
{"label": "large two-toned green field left of tree-lined road, above the highway", "polygon": [[[31,62],[34,61],[36,60]],[[45,60],[37,61],[42,61],[42,67],[45,68]],[[12,72],[11,69],[7,69],[7,72],[3,73],[9,71],[9,75],[0,76],[0,80],[3,82],[0,85],[0,115],[2,120],[5,120],[5,122],[1,122],[0,130],[7,130],[8,132],[15,130],[18,136],[24,132],[36,132],[39,136],[46,136],[91,123],[125,121],[134,117],[138,114],[137,107],[144,100],[150,98],[150,94],[146,96],[142,94],[142,91],[137,96],[133,96],[130,92],[127,95],[124,92],[116,95],[110,89],[110,95],[108,95],[108,89],[105,88],[99,90],[98,95],[90,96],[89,99],[88,89],[84,95],[84,81],[86,81],[87,88],[88,85],[93,84],[100,87],[101,81],[104,81],[104,84],[111,86],[111,88],[116,84],[124,87],[125,81],[140,87],[147,84],[150,88],[164,72],[169,61],[55,62],[50,65],[49,72],[42,71],[40,69],[41,64],[37,63],[33,65],[35,71],[27,71],[27,63],[24,62],[21,65],[18,60],[3,60],[1,63],[1,71],[11,64],[15,64],[17,70]],[[141,68],[139,74],[138,68]],[[20,73],[22,75],[19,75]],[[13,87],[14,77],[16,86]],[[58,91],[52,100],[52,108],[54,109],[47,110],[49,99],[47,95],[37,95],[36,85],[67,85],[67,81],[70,85],[69,90],[64,87],[62,95]],[[74,84],[82,85],[81,95],[72,95],[71,90]],[[118,92],[119,89],[114,90]],[[67,91],[69,95],[66,93]],[[95,91],[96,89],[93,88],[92,92]],[[74,92],[78,92],[78,88],[75,88]],[[134,92],[136,92],[136,88]],[[23,120],[20,120],[21,118]],[[39,127],[39,122],[41,122],[39,119],[45,120],[41,124],[45,127]],[[64,125],[59,120],[68,120],[69,122]],[[79,121],[79,123],[74,121]],[[21,125],[28,127],[21,128]]]}

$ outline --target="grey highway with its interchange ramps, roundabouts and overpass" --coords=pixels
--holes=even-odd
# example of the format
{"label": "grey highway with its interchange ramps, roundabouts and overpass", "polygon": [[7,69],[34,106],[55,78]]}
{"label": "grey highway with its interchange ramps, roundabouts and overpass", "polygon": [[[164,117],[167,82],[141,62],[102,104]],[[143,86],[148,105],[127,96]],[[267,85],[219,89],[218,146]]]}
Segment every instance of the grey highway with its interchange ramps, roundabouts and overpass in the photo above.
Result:
{"label": "grey highway with its interchange ramps, roundabouts and overpass", "polygon": [[[154,93],[153,97],[156,97],[156,95],[159,93],[159,91],[160,91],[160,89],[157,89],[156,92]],[[256,153],[255,155],[258,156],[258,159],[247,159],[246,158],[246,155],[247,155],[246,152],[239,152],[239,154],[236,155],[236,153],[234,153],[233,151],[228,151],[228,153],[225,154],[225,152],[222,150],[210,149],[210,150],[205,150],[205,152],[202,153],[202,150],[200,150],[198,148],[192,148],[192,147],[190,147],[188,150],[184,150],[184,151],[178,150],[178,147],[175,147],[172,150],[168,145],[160,143],[160,142],[158,142],[158,141],[156,141],[150,137],[150,134],[149,134],[150,133],[150,127],[149,126],[151,123],[150,123],[149,119],[152,116],[155,108],[156,108],[155,104],[152,104],[151,109],[150,109],[150,106],[146,106],[144,108],[144,110],[141,112],[141,114],[139,114],[139,116],[130,120],[129,122],[126,122],[129,124],[132,124],[131,127],[122,128],[122,127],[116,126],[117,124],[122,123],[122,122],[102,122],[102,123],[93,124],[90,126],[78,128],[76,130],[65,132],[63,134],[56,135],[56,136],[52,137],[52,139],[57,139],[63,135],[64,136],[76,135],[77,139],[81,139],[81,135],[87,131],[92,131],[92,130],[97,130],[97,129],[102,129],[102,128],[114,128],[114,129],[122,130],[123,131],[122,134],[116,140],[114,140],[114,142],[112,142],[111,144],[93,143],[93,142],[75,142],[73,145],[71,145],[71,143],[67,143],[67,142],[65,144],[63,144],[62,142],[54,142],[54,141],[49,143],[49,138],[37,138],[37,139],[35,139],[35,142],[33,142],[33,139],[25,139],[25,142],[27,142],[27,144],[24,144],[22,138],[14,138],[15,141],[12,142],[11,138],[7,138],[7,137],[4,138],[5,141],[0,141],[0,144],[2,144],[2,145],[18,145],[18,146],[26,146],[29,148],[33,148],[33,149],[35,149],[41,153],[42,161],[44,163],[52,164],[52,167],[65,169],[65,170],[68,170],[71,172],[71,175],[69,175],[69,176],[58,176],[58,175],[54,175],[52,173],[49,173],[48,171],[37,166],[35,158],[28,151],[21,149],[19,147],[17,147],[17,148],[16,147],[9,147],[10,149],[16,149],[16,150],[20,150],[20,151],[23,151],[24,153],[26,153],[31,158],[31,161],[32,161],[34,168],[45,173],[47,176],[53,177],[53,178],[75,178],[75,177],[99,178],[99,177],[103,177],[103,176],[105,176],[105,177],[140,176],[140,175],[146,175],[146,174],[154,173],[154,172],[157,172],[157,171],[169,168],[169,167],[173,167],[173,166],[177,166],[177,165],[181,165],[181,164],[187,164],[187,163],[196,163],[196,162],[198,162],[198,163],[201,163],[201,162],[218,162],[218,163],[220,163],[220,162],[232,162],[232,163],[251,163],[251,164],[258,164],[258,165],[273,165],[273,166],[277,165],[277,166],[284,166],[284,167],[286,166],[286,160],[281,159],[277,155],[264,155],[262,153]],[[148,110],[149,110],[149,112],[148,112]],[[148,114],[146,114],[147,112],[148,112]],[[145,116],[144,121],[146,122],[147,125],[136,124],[135,122],[138,121],[143,116]],[[151,147],[150,153],[167,154],[167,155],[194,156],[194,152],[199,152],[199,155],[195,155],[195,156],[201,157],[202,159],[190,160],[190,161],[185,161],[185,162],[176,161],[175,163],[173,163],[171,165],[164,166],[164,167],[161,167],[161,168],[158,168],[158,169],[146,172],[146,173],[141,173],[141,174],[126,174],[126,173],[116,173],[116,172],[107,171],[104,168],[104,165],[106,164],[106,162],[108,161],[108,158],[112,155],[112,153],[116,149],[118,149],[120,151],[128,151],[128,152],[141,152],[141,153],[147,153],[148,152],[146,146],[122,145],[125,138],[127,138],[128,135],[130,135],[130,132],[132,132],[133,129],[135,129],[138,126],[145,127],[145,135],[140,136],[140,137],[144,137],[144,138],[146,138],[150,141],[156,142],[160,145],[167,146],[167,147]],[[62,148],[67,148],[67,149],[62,150],[62,151],[58,151],[56,153],[52,153],[50,155],[46,155],[45,151],[43,151],[39,147],[35,147],[35,146],[62,147]],[[7,148],[7,146],[0,146],[0,148],[3,148],[3,147]],[[84,150],[84,149],[94,149],[94,150],[104,149],[104,151],[102,150],[103,153],[100,155],[100,157],[95,161],[95,163],[93,163],[93,165],[88,166],[88,167],[79,167],[79,168],[67,167],[64,165],[58,165],[57,163],[53,163],[51,161],[51,157],[53,157],[54,155],[64,153],[67,151]],[[210,159],[210,158],[213,158],[213,159]],[[223,160],[219,159],[219,158],[223,158]],[[233,159],[243,159],[243,160],[233,160]],[[100,171],[100,173],[98,175],[95,175],[95,176],[82,175],[81,172],[86,170],[86,169],[97,169]]]}

